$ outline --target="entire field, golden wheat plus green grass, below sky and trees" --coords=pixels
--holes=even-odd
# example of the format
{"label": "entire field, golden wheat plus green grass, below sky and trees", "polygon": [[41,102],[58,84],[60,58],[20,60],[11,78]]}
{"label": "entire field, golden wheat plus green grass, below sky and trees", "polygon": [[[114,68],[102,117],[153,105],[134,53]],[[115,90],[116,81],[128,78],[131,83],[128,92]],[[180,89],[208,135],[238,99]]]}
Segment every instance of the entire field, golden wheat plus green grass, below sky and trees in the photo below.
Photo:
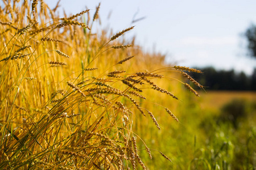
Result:
{"label": "entire field, golden wheat plus green grass, below sky and trees", "polygon": [[205,92],[136,27],[94,32],[100,5],[58,10],[1,3],[0,169],[255,169],[255,93]]}

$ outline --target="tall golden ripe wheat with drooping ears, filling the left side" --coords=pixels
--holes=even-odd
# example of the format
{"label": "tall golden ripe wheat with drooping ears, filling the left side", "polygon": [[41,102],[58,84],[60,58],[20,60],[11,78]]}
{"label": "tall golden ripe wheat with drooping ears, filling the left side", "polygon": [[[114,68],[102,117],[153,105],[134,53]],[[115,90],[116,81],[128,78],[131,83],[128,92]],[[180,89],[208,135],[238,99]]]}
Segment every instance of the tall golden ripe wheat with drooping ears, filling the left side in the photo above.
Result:
{"label": "tall golden ripe wheat with drooping ears, filling the left side", "polygon": [[100,6],[92,19],[89,10],[61,18],[57,7],[1,3],[0,169],[146,169],[140,151],[151,158],[151,148],[137,147],[133,118],[151,119],[160,130],[146,107],[155,105],[178,119],[169,104],[157,104],[161,97],[144,95],[177,100],[175,90],[159,85],[173,83],[199,96],[179,75],[202,87],[184,73],[201,72],[167,66],[163,56],[119,40],[134,27],[92,32]]}

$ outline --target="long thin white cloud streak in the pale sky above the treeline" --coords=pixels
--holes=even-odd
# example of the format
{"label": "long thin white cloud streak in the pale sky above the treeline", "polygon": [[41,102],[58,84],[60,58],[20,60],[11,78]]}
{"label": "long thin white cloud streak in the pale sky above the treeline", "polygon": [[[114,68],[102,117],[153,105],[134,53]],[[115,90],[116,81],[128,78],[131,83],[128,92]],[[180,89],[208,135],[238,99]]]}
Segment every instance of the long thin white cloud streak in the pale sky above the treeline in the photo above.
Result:
{"label": "long thin white cloud streak in the pale sky above the treeline", "polygon": [[179,41],[180,45],[237,45],[238,39],[236,36],[224,37],[185,37]]}

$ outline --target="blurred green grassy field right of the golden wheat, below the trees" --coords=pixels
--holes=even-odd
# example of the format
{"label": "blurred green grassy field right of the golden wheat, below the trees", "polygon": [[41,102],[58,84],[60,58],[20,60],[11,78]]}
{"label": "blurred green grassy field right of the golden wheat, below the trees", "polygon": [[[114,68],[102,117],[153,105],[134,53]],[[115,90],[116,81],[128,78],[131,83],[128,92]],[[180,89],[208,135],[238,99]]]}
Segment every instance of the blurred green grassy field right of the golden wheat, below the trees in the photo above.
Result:
{"label": "blurred green grassy field right of the golden wheat, below the trees", "polygon": [[180,123],[161,119],[160,134],[142,133],[149,125],[140,126],[138,133],[151,139],[148,146],[165,151],[173,162],[155,155],[157,163],[147,162],[151,169],[253,169],[255,92],[200,91],[200,96],[180,99],[175,111]]}

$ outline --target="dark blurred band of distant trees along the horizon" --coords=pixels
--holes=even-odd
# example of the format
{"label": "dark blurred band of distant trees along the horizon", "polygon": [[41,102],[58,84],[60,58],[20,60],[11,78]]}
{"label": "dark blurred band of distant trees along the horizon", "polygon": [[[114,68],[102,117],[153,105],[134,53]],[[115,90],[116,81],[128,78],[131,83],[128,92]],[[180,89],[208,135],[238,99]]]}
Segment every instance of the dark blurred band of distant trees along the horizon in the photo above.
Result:
{"label": "dark blurred band of distant trees along the horizon", "polygon": [[252,75],[234,70],[215,70],[213,67],[199,69],[203,74],[189,73],[206,90],[256,91],[256,69]]}

